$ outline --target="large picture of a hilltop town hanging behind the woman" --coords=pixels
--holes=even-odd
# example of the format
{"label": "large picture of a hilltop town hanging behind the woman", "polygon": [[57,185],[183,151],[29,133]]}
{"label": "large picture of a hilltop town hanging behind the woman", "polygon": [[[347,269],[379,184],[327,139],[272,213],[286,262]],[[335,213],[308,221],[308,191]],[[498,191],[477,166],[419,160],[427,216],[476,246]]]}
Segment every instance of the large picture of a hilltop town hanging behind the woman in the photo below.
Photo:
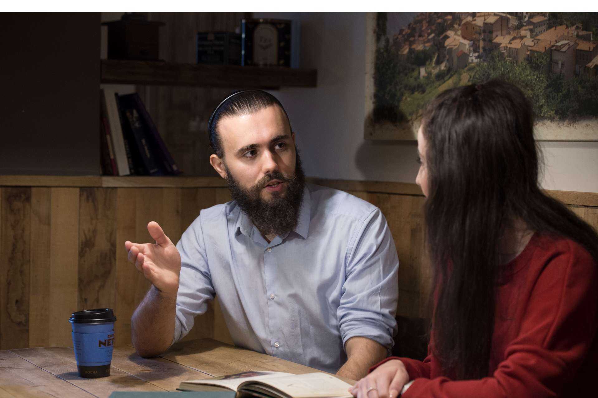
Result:
{"label": "large picture of a hilltop town hanging behind the woman", "polygon": [[416,140],[441,91],[507,79],[541,141],[598,141],[598,13],[367,13],[364,137]]}

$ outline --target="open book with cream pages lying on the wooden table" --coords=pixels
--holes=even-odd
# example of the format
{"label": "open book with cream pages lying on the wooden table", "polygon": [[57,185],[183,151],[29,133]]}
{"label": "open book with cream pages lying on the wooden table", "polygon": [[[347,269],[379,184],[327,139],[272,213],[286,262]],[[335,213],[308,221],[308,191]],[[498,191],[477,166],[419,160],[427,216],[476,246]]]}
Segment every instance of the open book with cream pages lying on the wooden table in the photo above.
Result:
{"label": "open book with cream pages lying on the wooden table", "polygon": [[181,391],[237,391],[237,398],[350,398],[350,384],[326,373],[243,372],[184,381]]}

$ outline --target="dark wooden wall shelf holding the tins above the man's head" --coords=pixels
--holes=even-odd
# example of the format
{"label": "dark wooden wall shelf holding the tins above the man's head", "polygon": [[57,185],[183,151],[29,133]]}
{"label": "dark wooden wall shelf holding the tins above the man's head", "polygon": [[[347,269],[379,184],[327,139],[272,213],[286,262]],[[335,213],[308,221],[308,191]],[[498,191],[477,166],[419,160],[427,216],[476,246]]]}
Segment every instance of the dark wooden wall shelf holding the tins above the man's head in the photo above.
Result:
{"label": "dark wooden wall shelf holding the tins above the man's head", "polygon": [[288,67],[102,60],[102,83],[197,87],[316,87],[318,71]]}

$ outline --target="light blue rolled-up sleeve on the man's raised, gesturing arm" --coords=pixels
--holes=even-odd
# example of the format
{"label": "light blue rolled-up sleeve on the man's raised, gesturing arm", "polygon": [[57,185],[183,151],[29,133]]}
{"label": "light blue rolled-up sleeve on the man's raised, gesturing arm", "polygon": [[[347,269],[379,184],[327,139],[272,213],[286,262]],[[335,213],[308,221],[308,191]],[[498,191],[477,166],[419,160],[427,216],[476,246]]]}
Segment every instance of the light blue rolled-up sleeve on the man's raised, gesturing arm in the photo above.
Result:
{"label": "light blue rolled-up sleeve on the man's raised, gesturing arm", "polygon": [[181,254],[181,276],[176,296],[173,343],[188,334],[193,328],[195,317],[205,313],[208,310],[208,301],[214,298],[201,219],[200,213],[176,243],[176,248]]}

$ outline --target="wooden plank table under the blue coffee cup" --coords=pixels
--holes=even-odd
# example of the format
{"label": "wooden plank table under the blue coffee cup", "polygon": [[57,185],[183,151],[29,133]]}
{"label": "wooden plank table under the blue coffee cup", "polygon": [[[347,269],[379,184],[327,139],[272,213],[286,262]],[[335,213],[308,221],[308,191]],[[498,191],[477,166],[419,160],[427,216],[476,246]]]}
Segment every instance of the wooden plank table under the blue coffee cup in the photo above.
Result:
{"label": "wooden plank table under the blue coffee cup", "polygon": [[[292,374],[317,369],[212,339],[176,343],[160,357],[140,357],[130,345],[114,347],[109,377],[81,378],[72,347],[0,351],[0,398],[108,397],[112,391],[174,391],[181,381],[243,371]],[[352,381],[343,379],[352,384]]]}

